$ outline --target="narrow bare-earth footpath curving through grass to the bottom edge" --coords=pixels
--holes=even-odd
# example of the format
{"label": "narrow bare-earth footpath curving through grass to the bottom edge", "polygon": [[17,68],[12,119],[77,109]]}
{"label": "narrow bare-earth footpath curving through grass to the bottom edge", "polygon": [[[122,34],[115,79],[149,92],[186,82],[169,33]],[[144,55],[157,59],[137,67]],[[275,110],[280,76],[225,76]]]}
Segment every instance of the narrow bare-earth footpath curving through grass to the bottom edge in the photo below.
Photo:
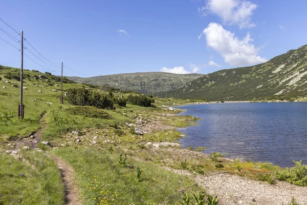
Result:
{"label": "narrow bare-earth footpath curving through grass to the bottom edge", "polygon": [[68,205],[81,205],[80,189],[75,180],[75,174],[72,167],[70,167],[64,160],[58,157],[53,157],[61,171],[64,187],[65,187],[65,201]]}

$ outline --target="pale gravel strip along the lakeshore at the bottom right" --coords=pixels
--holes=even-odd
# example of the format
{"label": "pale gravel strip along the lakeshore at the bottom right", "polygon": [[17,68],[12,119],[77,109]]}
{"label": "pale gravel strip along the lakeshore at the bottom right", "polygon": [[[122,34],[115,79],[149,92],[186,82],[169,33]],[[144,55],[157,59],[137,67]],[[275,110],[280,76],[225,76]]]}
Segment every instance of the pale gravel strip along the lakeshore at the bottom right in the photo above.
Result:
{"label": "pale gravel strip along the lakeshore at the bottom right", "polygon": [[307,204],[307,187],[290,185],[286,181],[278,181],[276,185],[269,185],[266,182],[237,175],[217,173],[193,175],[188,171],[169,170],[193,178],[209,194],[217,195],[220,205],[281,205],[282,203],[288,204],[292,197],[299,204]]}

